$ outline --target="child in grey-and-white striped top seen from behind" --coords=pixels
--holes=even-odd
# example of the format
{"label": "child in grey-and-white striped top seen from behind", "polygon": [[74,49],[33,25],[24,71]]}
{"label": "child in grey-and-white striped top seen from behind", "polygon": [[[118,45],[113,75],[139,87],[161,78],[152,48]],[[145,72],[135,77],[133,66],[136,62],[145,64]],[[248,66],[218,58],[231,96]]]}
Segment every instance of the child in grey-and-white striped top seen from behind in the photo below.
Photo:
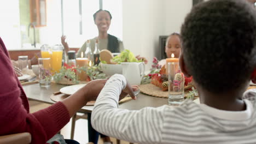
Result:
{"label": "child in grey-and-white striped top seen from behind", "polygon": [[256,143],[256,89],[246,91],[256,83],[255,9],[244,0],[197,4],[181,35],[179,64],[193,76],[201,104],[118,109],[129,85],[114,75],[96,100],[92,126],[133,143]]}

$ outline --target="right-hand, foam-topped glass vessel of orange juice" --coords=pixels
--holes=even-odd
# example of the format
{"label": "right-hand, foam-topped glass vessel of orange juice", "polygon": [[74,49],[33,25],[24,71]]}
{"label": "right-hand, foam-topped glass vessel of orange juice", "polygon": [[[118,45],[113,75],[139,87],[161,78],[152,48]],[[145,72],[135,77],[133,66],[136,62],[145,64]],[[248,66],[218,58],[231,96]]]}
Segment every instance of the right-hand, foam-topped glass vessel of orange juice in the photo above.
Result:
{"label": "right-hand, foam-topped glass vessel of orange juice", "polygon": [[59,73],[61,69],[62,53],[63,53],[62,45],[54,45],[53,47],[51,47],[51,59],[52,59],[51,68],[54,73]]}

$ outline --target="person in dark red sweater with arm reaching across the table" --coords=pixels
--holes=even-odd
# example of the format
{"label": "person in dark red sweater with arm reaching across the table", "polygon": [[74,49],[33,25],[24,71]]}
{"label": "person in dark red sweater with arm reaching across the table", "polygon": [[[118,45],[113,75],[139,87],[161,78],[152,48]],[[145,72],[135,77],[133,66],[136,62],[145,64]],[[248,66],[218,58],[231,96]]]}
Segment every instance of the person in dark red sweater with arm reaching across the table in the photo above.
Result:
{"label": "person in dark red sweater with arm reaching across the table", "polygon": [[[0,136],[28,132],[31,143],[46,143],[61,130],[69,119],[86,105],[95,100],[106,80],[89,82],[65,100],[46,109],[30,113],[28,100],[13,69],[5,45],[0,38]],[[39,86],[39,85],[38,85]],[[67,140],[68,143],[78,143]]]}

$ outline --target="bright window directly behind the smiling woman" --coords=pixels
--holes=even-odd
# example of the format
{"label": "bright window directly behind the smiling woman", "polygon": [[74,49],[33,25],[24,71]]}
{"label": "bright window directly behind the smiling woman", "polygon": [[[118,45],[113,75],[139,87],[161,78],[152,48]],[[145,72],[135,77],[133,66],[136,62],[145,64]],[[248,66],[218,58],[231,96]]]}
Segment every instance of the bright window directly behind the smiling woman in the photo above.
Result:
{"label": "bright window directly behind the smiling woman", "polygon": [[97,37],[98,29],[92,15],[100,9],[100,5],[113,17],[108,33],[123,39],[123,8],[120,0],[63,0],[63,34],[67,36],[69,47],[81,47],[87,39]]}

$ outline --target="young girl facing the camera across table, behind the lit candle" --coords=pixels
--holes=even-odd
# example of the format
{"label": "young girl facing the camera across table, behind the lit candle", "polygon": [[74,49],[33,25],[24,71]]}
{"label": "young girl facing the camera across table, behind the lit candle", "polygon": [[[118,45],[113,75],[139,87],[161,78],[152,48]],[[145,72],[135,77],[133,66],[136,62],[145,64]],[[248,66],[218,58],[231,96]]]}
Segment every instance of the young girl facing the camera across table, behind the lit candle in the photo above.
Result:
{"label": "young girl facing the camera across table, behind the lit candle", "polygon": [[[175,58],[179,58],[179,53],[181,53],[181,39],[178,33],[172,33],[166,39],[165,53],[167,58],[171,58],[172,53]],[[162,59],[158,62],[158,65],[165,65],[166,59]]]}

